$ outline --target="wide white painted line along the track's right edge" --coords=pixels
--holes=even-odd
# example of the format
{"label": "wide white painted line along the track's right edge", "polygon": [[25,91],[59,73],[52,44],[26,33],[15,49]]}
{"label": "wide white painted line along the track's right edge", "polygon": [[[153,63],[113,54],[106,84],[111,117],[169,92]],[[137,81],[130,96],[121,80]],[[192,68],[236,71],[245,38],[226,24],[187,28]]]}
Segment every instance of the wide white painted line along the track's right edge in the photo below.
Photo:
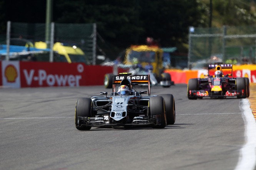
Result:
{"label": "wide white painted line along the track's right edge", "polygon": [[239,162],[234,170],[254,170],[256,165],[256,121],[248,99],[242,99],[245,144],[240,149]]}

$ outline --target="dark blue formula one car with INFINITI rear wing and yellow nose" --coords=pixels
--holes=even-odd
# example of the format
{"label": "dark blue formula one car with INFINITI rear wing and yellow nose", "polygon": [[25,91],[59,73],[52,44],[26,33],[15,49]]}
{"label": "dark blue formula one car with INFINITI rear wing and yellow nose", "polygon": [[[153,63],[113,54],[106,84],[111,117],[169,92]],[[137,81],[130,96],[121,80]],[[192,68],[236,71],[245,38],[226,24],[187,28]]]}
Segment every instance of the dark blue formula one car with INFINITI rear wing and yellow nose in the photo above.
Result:
{"label": "dark blue formula one car with INFINITI rear wing and yellow nose", "polygon": [[[227,70],[230,70],[229,73],[224,75],[223,71],[227,73]],[[214,72],[214,75],[210,75],[211,72]],[[234,78],[232,64],[209,64],[208,75],[204,76],[207,78],[191,78],[188,81],[188,99],[235,96],[237,98],[246,98],[250,95],[249,78]]]}

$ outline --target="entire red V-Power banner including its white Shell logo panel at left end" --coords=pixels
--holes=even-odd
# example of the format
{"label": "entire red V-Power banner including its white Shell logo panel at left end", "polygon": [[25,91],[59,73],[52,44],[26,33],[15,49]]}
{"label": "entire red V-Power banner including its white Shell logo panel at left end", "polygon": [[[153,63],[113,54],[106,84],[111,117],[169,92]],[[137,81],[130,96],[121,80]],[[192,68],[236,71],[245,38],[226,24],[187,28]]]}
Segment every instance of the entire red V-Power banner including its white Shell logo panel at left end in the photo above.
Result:
{"label": "entire red V-Power banner including its white Shell logo panel at left end", "polygon": [[0,62],[0,86],[58,87],[103,85],[106,73],[113,67],[64,62]]}

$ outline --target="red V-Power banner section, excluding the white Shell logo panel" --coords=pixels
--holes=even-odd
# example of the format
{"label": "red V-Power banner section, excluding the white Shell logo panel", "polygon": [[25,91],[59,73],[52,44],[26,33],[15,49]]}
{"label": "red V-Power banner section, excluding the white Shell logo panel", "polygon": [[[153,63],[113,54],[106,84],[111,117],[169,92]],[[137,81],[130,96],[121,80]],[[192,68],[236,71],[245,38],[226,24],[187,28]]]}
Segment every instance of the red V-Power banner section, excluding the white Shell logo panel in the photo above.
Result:
{"label": "red V-Power banner section, excluding the white Shell logo panel", "polygon": [[103,85],[112,67],[62,62],[20,62],[22,87]]}

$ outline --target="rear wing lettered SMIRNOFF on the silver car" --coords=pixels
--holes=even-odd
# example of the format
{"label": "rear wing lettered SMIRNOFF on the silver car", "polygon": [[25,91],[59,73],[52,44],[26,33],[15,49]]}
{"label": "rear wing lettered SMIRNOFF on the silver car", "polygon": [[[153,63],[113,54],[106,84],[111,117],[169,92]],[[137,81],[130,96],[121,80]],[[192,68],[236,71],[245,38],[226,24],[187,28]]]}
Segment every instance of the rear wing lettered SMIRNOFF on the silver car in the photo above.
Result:
{"label": "rear wing lettered SMIRNOFF on the silver car", "polygon": [[150,75],[131,75],[131,73],[120,73],[113,76],[113,92],[116,91],[116,84],[120,84],[125,78],[131,80],[131,85],[148,84],[148,95],[150,95]]}

